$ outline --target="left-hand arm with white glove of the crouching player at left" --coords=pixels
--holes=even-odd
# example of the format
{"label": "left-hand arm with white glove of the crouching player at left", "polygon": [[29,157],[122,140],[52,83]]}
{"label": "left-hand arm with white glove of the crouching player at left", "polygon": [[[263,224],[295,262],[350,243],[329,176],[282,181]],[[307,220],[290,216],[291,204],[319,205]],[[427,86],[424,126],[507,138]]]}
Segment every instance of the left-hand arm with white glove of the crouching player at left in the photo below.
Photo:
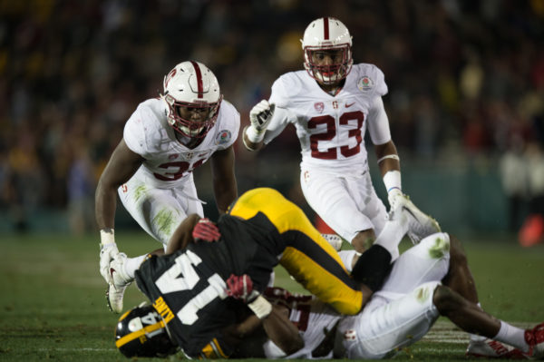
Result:
{"label": "left-hand arm with white glove of the crouching player at left", "polygon": [[121,140],[112,153],[112,157],[98,181],[94,195],[94,212],[100,230],[100,273],[110,283],[112,277],[108,271],[110,262],[119,253],[115,243],[114,220],[117,207],[117,189],[122,183],[129,181],[140,168],[143,158],[132,152]]}

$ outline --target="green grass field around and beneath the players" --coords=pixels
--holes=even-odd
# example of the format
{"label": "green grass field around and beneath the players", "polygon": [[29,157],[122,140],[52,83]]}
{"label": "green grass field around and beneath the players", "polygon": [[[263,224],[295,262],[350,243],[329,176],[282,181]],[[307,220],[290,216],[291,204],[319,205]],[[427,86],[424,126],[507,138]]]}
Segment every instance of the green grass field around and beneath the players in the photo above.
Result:
{"label": "green grass field around and beneath the players", "polygon": [[[119,234],[120,249],[129,256],[158,245],[143,233]],[[481,304],[520,326],[544,321],[544,245],[522,249],[506,239],[465,242]],[[1,361],[127,360],[113,343],[117,317],[105,304],[97,235],[3,235],[0,240]],[[298,289],[285,273],[278,274],[277,284]],[[125,308],[143,300],[131,286]],[[441,318],[426,338],[394,359],[463,360],[466,342],[465,334]]]}

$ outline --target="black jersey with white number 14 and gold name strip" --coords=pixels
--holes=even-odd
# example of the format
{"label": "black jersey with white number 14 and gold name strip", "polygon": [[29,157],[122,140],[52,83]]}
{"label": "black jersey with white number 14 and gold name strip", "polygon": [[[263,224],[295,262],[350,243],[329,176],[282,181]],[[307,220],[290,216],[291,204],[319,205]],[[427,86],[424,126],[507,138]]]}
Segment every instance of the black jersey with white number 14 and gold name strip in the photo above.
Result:
{"label": "black jersey with white number 14 and gold name strip", "polygon": [[171,338],[189,357],[199,357],[214,339],[225,356],[232,352],[220,330],[236,322],[239,302],[227,298],[225,280],[231,274],[248,274],[254,289],[264,291],[285,249],[263,214],[250,222],[224,215],[218,227],[218,242],[189,244],[174,254],[152,257],[136,271],[138,287],[153,301]]}

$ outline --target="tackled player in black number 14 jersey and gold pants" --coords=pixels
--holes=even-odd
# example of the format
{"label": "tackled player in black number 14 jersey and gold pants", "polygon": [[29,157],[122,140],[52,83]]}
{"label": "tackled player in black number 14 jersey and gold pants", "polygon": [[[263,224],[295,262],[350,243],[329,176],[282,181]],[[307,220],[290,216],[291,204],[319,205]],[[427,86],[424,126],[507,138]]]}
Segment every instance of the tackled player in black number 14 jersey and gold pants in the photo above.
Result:
{"label": "tackled player in black number 14 jersey and gold pants", "polygon": [[128,357],[164,354],[171,343],[154,339],[165,338],[166,326],[173,345],[188,357],[209,357],[212,352],[228,357],[233,347],[222,329],[236,324],[236,311],[245,306],[227,298],[227,284],[231,291],[251,289],[244,296],[248,307],[257,318],[267,318],[272,306],[260,293],[278,263],[337,312],[354,315],[381,287],[391,260],[398,257],[402,235],[411,230],[423,238],[435,231],[432,219],[410,201],[396,211],[351,276],[304,212],[272,189],[244,193],[217,227],[189,216],[174,232],[168,255],[151,257],[137,270],[122,270],[126,278],[135,276],[153,306],[134,308],[121,317],[116,346]]}

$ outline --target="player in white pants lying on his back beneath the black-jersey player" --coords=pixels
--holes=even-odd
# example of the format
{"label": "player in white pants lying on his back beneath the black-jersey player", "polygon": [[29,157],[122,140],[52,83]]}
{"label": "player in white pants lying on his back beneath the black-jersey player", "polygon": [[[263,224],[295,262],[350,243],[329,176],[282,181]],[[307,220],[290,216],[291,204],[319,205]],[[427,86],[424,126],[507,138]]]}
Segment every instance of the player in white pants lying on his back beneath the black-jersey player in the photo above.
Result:
{"label": "player in white pants lying on his back beneath the black-jersey player", "polygon": [[[345,265],[356,262],[355,252],[340,254]],[[433,234],[404,252],[394,262],[384,287],[356,316],[343,317],[314,297],[292,295],[284,289],[267,289],[265,295],[275,304],[272,318],[290,319],[296,333],[277,340],[274,334],[267,338],[264,333],[251,331],[249,335],[254,337],[243,338],[232,357],[393,357],[401,348],[423,338],[439,316],[480,335],[471,338],[467,349],[470,357],[544,357],[544,323],[523,330],[484,312],[477,304],[461,244],[446,233]],[[249,326],[256,320],[251,316],[244,324]],[[248,333],[240,327],[230,330],[238,329]],[[304,347],[296,349],[285,342],[293,338],[302,338],[299,346]]]}

